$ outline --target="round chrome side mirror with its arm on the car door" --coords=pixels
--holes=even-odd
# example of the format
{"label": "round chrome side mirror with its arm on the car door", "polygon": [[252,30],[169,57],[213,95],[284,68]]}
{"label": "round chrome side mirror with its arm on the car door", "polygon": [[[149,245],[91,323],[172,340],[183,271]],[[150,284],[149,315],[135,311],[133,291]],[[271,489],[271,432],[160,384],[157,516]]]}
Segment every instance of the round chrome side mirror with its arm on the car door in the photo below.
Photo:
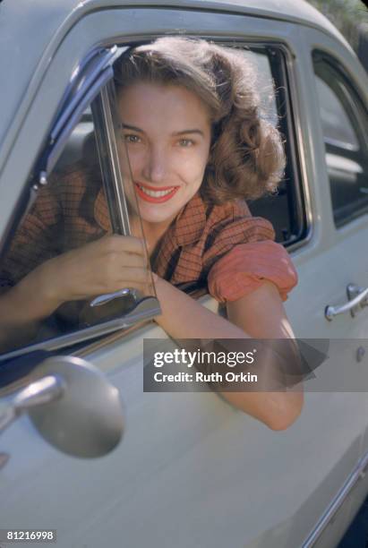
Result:
{"label": "round chrome side mirror with its arm on the car door", "polygon": [[28,413],[56,449],[81,458],[106,455],[124,432],[119,391],[80,357],[54,355],[37,365],[31,383],[0,408],[0,432]]}

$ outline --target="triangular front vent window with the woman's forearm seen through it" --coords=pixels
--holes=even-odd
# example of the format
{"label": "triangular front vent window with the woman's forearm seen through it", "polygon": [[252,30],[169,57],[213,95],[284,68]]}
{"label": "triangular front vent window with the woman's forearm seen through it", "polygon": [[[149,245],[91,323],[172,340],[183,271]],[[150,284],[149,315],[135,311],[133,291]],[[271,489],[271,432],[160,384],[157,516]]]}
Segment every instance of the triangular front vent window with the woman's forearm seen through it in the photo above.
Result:
{"label": "triangular front vent window with the woman's forearm seen through it", "polygon": [[[116,210],[116,203],[107,201],[96,136],[88,108],[47,176],[47,184],[39,185],[30,210],[13,231],[0,264],[0,355],[123,318],[142,296],[154,295],[147,268],[147,279],[138,289],[116,287],[122,290],[120,296],[99,299],[102,304],[95,301],[107,294],[103,284],[98,286],[98,279],[105,282],[108,276],[103,257],[111,261],[110,219]],[[38,179],[35,174],[34,183]],[[130,209],[134,210],[132,197]],[[135,234],[141,235],[139,224]],[[117,254],[116,263],[124,269],[126,255],[120,253],[117,258]],[[141,260],[148,262],[144,249]],[[87,297],[83,294],[92,276],[96,278],[96,295]],[[12,312],[10,323],[4,319],[7,307],[19,308],[16,317]]]}

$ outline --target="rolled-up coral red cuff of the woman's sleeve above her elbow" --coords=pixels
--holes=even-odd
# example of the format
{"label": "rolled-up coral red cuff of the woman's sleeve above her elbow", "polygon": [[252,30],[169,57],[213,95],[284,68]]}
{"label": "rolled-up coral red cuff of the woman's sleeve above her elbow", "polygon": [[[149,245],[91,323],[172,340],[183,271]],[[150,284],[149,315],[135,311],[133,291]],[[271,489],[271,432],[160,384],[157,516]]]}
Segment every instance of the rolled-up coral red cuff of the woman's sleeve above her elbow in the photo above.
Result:
{"label": "rolled-up coral red cuff of the woman's sleeve above her elbow", "polygon": [[283,301],[297,284],[295,267],[281,244],[262,240],[237,244],[211,268],[210,295],[218,302],[235,301],[269,280],[278,287]]}

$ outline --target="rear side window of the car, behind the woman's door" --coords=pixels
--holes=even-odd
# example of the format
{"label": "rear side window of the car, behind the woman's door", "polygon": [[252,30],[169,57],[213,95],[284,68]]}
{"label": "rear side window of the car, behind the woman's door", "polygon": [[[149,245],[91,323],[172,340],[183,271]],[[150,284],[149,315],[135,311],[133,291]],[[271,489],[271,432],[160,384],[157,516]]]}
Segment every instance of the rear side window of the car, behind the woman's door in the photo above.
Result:
{"label": "rear side window of the car, behind the woman's door", "polygon": [[367,110],[329,56],[313,56],[329,190],[336,227],[368,210]]}

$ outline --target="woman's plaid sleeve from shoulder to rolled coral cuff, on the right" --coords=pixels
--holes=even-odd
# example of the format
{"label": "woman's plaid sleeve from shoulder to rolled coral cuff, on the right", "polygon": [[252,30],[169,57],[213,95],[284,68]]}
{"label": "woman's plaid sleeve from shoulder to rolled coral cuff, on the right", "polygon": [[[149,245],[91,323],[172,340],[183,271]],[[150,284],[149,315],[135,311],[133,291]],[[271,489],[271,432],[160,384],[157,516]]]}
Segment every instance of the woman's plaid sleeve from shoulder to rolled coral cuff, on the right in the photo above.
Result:
{"label": "woman's plaid sleeve from shoulder to rolled coral cuff, on the right", "polygon": [[274,241],[270,221],[252,217],[245,201],[218,206],[213,214],[222,221],[212,227],[203,254],[210,294],[222,303],[235,301],[270,280],[285,301],[297,274],[287,250]]}

